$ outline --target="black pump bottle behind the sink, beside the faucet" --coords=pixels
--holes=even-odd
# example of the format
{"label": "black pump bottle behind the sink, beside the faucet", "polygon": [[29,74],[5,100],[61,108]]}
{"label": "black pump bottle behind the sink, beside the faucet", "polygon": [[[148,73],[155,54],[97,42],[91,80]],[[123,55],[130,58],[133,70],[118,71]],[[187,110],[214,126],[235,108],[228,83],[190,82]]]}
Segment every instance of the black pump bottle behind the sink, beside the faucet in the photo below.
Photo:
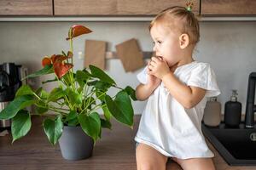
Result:
{"label": "black pump bottle behind the sink, beside the faucet", "polygon": [[228,127],[238,127],[241,122],[241,103],[237,101],[237,90],[232,90],[230,101],[225,103],[224,123]]}

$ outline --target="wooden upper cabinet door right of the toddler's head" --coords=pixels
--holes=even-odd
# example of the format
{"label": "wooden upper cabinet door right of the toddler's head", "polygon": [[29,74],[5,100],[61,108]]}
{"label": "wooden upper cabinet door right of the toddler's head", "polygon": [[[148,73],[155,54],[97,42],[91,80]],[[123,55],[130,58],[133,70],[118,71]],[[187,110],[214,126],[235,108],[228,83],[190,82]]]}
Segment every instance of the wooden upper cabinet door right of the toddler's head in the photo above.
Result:
{"label": "wooden upper cabinet door right of the toddler's head", "polygon": [[202,15],[253,15],[255,0],[201,0]]}

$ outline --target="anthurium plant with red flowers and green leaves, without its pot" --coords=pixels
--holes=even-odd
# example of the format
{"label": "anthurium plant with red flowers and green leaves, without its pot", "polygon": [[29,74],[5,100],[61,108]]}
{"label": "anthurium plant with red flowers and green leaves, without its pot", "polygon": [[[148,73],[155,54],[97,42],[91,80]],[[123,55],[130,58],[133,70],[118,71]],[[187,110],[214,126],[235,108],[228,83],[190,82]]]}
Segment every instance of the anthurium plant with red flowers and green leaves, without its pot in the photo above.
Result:
{"label": "anthurium plant with red flowers and green leaves, without its pot", "polygon": [[[43,83],[56,82],[55,88],[47,92],[42,87],[32,89],[23,85],[15,94],[15,99],[0,112],[0,119],[12,119],[13,142],[29,132],[32,115],[45,116],[44,133],[51,144],[60,139],[65,125],[81,126],[94,141],[101,138],[102,127],[111,129],[112,117],[129,127],[133,126],[131,99],[136,100],[133,88],[119,88],[113,78],[94,65],[73,71],[73,38],[90,32],[85,26],[72,26],[67,37],[70,50],[45,56],[43,68],[26,77],[53,74],[52,79]],[[110,96],[110,88],[117,88],[118,92]],[[36,108],[33,113],[26,111],[26,107],[31,105]],[[98,113],[100,110],[102,116]]]}

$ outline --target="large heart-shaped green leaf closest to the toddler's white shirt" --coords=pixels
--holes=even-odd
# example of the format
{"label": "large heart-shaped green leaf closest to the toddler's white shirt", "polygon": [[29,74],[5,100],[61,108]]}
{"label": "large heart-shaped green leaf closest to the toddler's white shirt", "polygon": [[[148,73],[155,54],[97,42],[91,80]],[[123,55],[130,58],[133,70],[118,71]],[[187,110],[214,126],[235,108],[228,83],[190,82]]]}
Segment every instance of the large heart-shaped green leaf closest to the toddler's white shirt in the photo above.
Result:
{"label": "large heart-shaped green leaf closest to the toddler's white shirt", "polygon": [[119,121],[123,122],[128,126],[133,125],[133,109],[131,106],[131,99],[128,94],[121,91],[117,94],[116,99],[111,99],[110,96],[106,95],[106,104],[111,115]]}

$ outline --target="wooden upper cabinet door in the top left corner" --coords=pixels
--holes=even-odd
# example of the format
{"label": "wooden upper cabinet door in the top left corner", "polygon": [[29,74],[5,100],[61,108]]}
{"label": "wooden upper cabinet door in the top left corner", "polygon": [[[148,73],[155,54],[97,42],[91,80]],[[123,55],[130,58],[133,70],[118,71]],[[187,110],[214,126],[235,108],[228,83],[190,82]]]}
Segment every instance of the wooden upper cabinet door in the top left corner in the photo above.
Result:
{"label": "wooden upper cabinet door in the top left corner", "polygon": [[0,0],[0,15],[52,14],[52,0]]}

